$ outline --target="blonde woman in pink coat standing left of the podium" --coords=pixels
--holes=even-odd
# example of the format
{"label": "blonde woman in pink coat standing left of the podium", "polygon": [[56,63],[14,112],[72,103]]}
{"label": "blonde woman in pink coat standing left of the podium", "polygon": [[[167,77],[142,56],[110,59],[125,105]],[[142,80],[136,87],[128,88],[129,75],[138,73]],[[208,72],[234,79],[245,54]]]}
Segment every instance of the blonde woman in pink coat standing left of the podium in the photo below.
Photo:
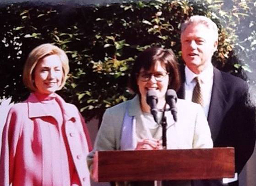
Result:
{"label": "blonde woman in pink coat standing left of the podium", "polygon": [[10,109],[2,134],[0,185],[88,186],[91,149],[76,106],[55,93],[65,84],[69,60],[62,49],[42,44],[23,70],[29,98]]}

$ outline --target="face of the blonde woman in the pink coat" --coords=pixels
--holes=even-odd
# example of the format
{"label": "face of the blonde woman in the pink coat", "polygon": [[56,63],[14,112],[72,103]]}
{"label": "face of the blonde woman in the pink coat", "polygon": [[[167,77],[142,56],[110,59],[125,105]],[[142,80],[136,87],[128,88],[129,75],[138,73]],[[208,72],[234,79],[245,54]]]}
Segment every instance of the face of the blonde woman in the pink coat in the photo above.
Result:
{"label": "face of the blonde woman in the pink coat", "polygon": [[34,83],[37,92],[51,94],[59,89],[62,83],[62,62],[58,55],[49,55],[37,63],[34,70]]}

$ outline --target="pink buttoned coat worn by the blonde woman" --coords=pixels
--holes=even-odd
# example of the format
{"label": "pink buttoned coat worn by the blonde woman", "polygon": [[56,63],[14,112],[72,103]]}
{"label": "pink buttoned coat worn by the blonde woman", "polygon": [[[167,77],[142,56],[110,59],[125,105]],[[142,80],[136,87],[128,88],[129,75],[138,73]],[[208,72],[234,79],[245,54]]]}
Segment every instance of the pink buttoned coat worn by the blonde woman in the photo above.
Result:
{"label": "pink buttoned coat worn by the blonde woman", "polygon": [[[86,124],[76,106],[59,95],[56,101],[63,112],[62,133],[54,115],[34,94],[10,109],[2,134],[0,186],[90,185]],[[69,161],[74,174],[68,171]]]}

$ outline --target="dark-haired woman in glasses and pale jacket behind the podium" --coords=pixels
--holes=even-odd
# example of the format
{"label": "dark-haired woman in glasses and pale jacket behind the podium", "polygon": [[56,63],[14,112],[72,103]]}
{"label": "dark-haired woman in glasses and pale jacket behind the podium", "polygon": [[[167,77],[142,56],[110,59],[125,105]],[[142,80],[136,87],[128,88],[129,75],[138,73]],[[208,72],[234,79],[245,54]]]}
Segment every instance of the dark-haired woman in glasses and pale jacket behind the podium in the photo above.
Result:
{"label": "dark-haired woman in glasses and pale jacket behind the podium", "polygon": [[[95,151],[212,148],[211,133],[201,106],[177,98],[168,104],[169,89],[177,91],[180,87],[177,59],[171,49],[152,47],[141,52],[131,70],[129,87],[136,94],[134,98],[104,113],[94,150],[87,157],[89,166]],[[172,108],[175,113],[170,112]],[[163,117],[166,119],[165,146]],[[127,184],[151,185],[149,182]],[[168,185],[190,184],[176,181]]]}

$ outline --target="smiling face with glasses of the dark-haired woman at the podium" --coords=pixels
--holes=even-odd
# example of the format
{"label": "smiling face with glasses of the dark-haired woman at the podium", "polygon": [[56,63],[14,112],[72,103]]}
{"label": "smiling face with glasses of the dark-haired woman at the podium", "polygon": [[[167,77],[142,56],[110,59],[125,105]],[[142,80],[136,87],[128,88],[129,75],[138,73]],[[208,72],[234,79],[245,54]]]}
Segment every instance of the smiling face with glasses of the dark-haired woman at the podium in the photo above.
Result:
{"label": "smiling face with glasses of the dark-haired woman at the podium", "polygon": [[168,89],[169,76],[165,67],[162,67],[160,62],[157,62],[151,70],[140,70],[140,74],[138,74],[137,78],[137,84],[141,98],[146,98],[148,90],[155,90],[157,92],[158,99],[162,99],[165,98],[165,93]]}

